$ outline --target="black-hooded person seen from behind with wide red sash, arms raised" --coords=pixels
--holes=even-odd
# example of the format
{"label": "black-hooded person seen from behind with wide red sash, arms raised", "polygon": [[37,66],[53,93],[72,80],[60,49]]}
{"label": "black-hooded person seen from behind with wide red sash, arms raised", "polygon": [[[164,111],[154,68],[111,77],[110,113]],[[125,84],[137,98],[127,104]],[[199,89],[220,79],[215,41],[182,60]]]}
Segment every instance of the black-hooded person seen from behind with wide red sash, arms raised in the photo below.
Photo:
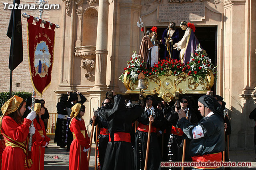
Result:
{"label": "black-hooded person seen from behind with wide red sash, arms raised", "polygon": [[134,155],[132,143],[132,122],[143,112],[138,104],[130,104],[126,108],[124,97],[114,96],[114,107],[106,105],[100,109],[100,115],[108,121],[109,142],[106,149],[103,170],[132,170],[134,169]]}

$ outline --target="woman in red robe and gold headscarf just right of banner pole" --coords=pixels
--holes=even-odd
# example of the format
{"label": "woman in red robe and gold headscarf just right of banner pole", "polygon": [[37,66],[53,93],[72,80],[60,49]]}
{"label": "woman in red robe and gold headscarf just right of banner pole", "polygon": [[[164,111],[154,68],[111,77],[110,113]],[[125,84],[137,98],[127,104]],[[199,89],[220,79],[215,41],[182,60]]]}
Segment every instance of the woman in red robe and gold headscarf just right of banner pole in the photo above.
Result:
{"label": "woman in red robe and gold headscarf just right of banner pole", "polygon": [[41,115],[43,115],[45,111],[44,105],[35,103],[34,111],[36,111],[36,119],[34,121],[36,132],[32,138],[33,164],[29,170],[44,170],[44,147],[49,144],[51,139],[46,136],[44,121],[41,119]]}

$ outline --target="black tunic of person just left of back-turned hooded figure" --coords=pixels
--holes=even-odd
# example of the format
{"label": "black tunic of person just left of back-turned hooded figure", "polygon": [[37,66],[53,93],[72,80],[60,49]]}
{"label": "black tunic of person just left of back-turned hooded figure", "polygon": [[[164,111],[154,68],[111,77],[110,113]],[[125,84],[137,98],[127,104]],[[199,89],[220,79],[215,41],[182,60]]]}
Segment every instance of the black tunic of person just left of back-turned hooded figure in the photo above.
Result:
{"label": "black tunic of person just left of back-turned hooded figure", "polygon": [[[100,130],[100,128],[108,128],[108,121],[106,121],[106,119],[104,119],[101,115],[100,115],[100,109],[99,108],[96,112],[96,119],[95,119],[95,126],[98,125],[98,129]],[[90,119],[90,124],[92,125],[93,121],[92,119]],[[96,127],[95,127],[96,128]],[[95,131],[96,132],[96,131]],[[96,133],[95,133],[96,134]],[[98,152],[99,152],[99,162],[100,162],[100,170],[103,169],[103,165],[104,165],[104,158],[105,158],[105,154],[106,154],[106,149],[107,149],[107,145],[108,145],[108,135],[98,135]],[[95,138],[94,138],[95,141]]]}

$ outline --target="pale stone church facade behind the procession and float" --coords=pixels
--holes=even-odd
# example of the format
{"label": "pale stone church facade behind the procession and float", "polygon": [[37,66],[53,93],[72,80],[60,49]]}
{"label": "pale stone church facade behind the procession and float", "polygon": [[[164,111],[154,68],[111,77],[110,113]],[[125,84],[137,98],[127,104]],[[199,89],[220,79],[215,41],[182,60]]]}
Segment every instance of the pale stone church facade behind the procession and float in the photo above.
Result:
{"label": "pale stone church facade behind the procession and float", "polygon": [[[35,3],[24,0],[23,4]],[[133,51],[139,51],[143,33],[137,26],[167,27],[169,21],[192,22],[201,30],[200,39],[212,47],[218,65],[215,92],[224,97],[231,117],[232,148],[253,148],[254,121],[249,114],[256,107],[256,1],[254,0],[51,0],[59,10],[45,10],[43,20],[60,25],[55,29],[52,82],[42,98],[49,112],[56,112],[60,94],[71,90],[86,96],[84,119],[90,129],[92,108],[101,105],[108,89],[124,93],[118,77]],[[37,10],[22,10],[38,16]],[[1,9],[0,91],[9,91],[6,36],[10,10]],[[23,63],[13,72],[13,91],[32,91],[26,46],[26,20],[22,19]],[[212,40],[207,37],[213,30]],[[204,32],[204,33],[203,33]],[[161,36],[159,34],[158,36]],[[199,38],[198,38],[199,39]],[[199,41],[200,41],[199,39]],[[41,98],[40,96],[38,98]]]}

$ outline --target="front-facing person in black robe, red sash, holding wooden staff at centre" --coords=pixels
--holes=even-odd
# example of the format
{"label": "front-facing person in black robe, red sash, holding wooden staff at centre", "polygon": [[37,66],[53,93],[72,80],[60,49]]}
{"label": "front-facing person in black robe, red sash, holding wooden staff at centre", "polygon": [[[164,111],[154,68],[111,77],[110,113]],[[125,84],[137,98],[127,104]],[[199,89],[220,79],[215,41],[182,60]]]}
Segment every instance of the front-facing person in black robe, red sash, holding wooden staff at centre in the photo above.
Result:
{"label": "front-facing person in black robe, red sash, holding wooden staff at centre", "polygon": [[[148,127],[149,121],[152,121],[151,133],[150,133],[150,145],[148,152],[148,164],[147,170],[160,170],[160,161],[162,160],[160,147],[157,140],[156,128],[162,129],[164,126],[164,114],[162,111],[156,108],[155,99],[153,96],[146,96],[146,107],[144,112],[138,119],[138,130],[135,135],[134,146],[134,162],[135,170],[144,169],[146,159],[146,149],[148,142]],[[154,105],[154,106],[153,106]],[[152,111],[152,117],[150,112]]]}

